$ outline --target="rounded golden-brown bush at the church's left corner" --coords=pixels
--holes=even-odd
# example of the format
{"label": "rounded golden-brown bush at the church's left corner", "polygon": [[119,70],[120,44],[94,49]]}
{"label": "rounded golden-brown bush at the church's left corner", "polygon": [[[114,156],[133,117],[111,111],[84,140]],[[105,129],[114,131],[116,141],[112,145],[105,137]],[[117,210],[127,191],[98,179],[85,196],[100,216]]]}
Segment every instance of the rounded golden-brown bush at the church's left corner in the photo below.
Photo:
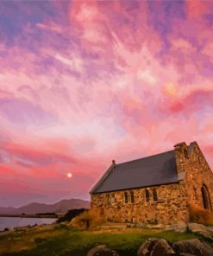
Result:
{"label": "rounded golden-brown bush at the church's left corner", "polygon": [[97,225],[100,223],[100,214],[98,214],[95,210],[89,210],[73,218],[71,221],[71,226],[77,229],[89,229],[97,227]]}

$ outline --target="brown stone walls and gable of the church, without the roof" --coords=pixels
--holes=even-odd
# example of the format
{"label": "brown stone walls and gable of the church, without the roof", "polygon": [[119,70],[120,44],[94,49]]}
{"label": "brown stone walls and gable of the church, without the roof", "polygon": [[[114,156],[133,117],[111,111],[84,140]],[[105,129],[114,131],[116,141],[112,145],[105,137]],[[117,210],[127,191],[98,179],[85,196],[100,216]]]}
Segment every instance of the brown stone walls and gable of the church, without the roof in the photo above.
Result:
{"label": "brown stone walls and gable of the church, without the roof", "polygon": [[150,224],[188,222],[190,204],[212,210],[213,174],[197,143],[176,144],[174,150],[179,182],[91,194],[91,208],[104,221]]}

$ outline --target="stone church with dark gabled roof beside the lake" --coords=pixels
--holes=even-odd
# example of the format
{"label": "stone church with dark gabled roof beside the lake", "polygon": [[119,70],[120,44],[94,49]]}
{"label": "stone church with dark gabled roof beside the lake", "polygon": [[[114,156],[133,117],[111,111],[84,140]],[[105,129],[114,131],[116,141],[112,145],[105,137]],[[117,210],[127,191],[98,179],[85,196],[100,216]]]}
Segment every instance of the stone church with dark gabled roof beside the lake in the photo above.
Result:
{"label": "stone church with dark gabled roof beside the lake", "polygon": [[126,163],[113,160],[91,189],[91,208],[104,221],[190,221],[189,206],[212,211],[213,174],[197,142]]}

